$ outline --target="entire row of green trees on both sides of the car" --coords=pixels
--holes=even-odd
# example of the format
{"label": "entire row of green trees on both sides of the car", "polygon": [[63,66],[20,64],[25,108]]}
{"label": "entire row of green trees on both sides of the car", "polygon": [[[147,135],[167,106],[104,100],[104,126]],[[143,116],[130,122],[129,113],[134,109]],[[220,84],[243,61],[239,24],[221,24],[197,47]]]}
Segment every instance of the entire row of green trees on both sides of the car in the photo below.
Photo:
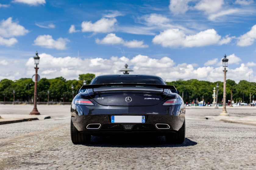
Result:
{"label": "entire row of green trees on both sides of the car", "polygon": [[[86,84],[90,84],[94,79],[95,75],[91,73],[80,74],[79,80],[66,80],[64,77],[56,77],[54,79],[42,78],[37,83],[37,94],[38,100],[40,102],[48,101],[49,99],[54,102],[71,102],[72,101],[72,91],[74,96],[76,95],[77,89],[83,85],[84,80]],[[180,91],[180,96],[183,96],[185,103],[196,102],[196,100],[201,101],[205,100],[206,103],[212,103],[213,98],[213,88],[216,88],[216,84],[219,83],[218,91],[218,103],[222,102],[223,98],[223,82],[209,82],[203,80],[176,80],[172,82],[166,82],[167,85],[174,85],[176,89]],[[71,85],[73,84],[73,89]],[[19,101],[31,101],[34,97],[34,82],[30,78],[21,78],[20,80],[8,80],[3,79],[0,81],[0,101],[13,101],[13,90],[15,90],[15,100]],[[217,90],[217,89],[216,89]],[[233,95],[233,100],[243,100],[244,102],[250,102],[253,100],[253,95],[256,99],[256,83],[248,82],[246,80],[241,80],[239,83],[236,83],[233,80],[226,80],[226,96],[227,101],[231,99],[231,90]]]}

